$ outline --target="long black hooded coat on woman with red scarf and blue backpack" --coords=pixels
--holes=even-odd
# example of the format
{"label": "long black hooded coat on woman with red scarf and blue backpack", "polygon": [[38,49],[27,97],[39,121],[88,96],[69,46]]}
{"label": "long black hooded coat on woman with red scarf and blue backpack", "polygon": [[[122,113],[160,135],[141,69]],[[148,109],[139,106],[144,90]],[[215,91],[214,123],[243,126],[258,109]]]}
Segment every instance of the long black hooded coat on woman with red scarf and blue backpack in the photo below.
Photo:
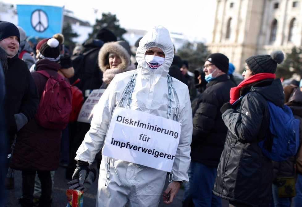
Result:
{"label": "long black hooded coat on woman with red scarf and blue backpack", "polygon": [[273,165],[258,142],[266,137],[269,127],[266,100],[282,107],[283,87],[280,79],[265,79],[241,88],[242,94],[248,91],[236,109],[227,109],[222,114],[228,134],[213,192],[248,206],[268,206]]}

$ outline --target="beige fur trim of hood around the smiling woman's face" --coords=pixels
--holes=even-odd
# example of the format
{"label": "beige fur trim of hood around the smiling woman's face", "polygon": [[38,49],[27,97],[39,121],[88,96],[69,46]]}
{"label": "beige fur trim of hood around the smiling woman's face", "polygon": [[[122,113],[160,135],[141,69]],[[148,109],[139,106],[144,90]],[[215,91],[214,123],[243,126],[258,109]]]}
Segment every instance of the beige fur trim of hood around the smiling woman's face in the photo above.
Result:
{"label": "beige fur trim of hood around the smiling woman's face", "polygon": [[127,52],[122,45],[118,42],[108,42],[103,45],[103,47],[99,51],[99,68],[101,71],[105,72],[105,70],[109,69],[107,65],[108,55],[109,53],[117,54],[122,62],[118,66],[120,69],[126,69],[130,63],[130,54]]}

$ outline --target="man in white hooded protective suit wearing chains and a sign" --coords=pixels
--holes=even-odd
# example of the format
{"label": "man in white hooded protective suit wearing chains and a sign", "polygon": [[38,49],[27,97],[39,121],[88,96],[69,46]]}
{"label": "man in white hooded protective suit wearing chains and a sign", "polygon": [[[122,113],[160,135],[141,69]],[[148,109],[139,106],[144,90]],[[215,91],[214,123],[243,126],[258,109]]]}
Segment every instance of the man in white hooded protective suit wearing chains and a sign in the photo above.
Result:
{"label": "man in white hooded protective suit wearing chains and a sign", "polygon": [[97,207],[154,207],[161,197],[170,204],[188,182],[192,109],[187,85],[168,74],[173,57],[169,31],[153,27],[137,48],[137,69],[116,74],[93,109],[67,184],[87,191],[96,176],[89,166],[102,149]]}

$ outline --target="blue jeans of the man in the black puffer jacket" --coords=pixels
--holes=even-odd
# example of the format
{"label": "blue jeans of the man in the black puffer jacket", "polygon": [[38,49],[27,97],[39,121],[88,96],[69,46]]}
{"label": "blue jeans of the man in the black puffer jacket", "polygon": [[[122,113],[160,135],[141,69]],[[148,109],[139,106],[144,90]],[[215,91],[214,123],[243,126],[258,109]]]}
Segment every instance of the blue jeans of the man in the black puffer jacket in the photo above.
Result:
{"label": "blue jeans of the man in the black puffer jacket", "polygon": [[221,207],[221,198],[215,196],[212,192],[217,167],[208,167],[202,163],[191,161],[193,178],[190,180],[192,201],[195,207],[199,206],[217,206]]}

